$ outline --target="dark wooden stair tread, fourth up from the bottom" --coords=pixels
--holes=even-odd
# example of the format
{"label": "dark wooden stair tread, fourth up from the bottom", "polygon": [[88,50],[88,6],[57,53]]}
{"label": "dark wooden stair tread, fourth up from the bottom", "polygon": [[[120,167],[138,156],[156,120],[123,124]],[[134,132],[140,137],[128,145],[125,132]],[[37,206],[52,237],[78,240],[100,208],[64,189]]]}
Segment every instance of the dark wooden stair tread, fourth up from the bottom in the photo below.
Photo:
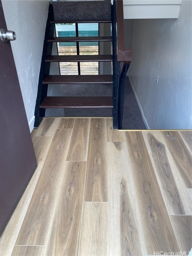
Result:
{"label": "dark wooden stair tread, fourth up from the bottom", "polygon": [[50,37],[48,42],[99,42],[112,41],[111,36],[71,36],[71,37]]}

